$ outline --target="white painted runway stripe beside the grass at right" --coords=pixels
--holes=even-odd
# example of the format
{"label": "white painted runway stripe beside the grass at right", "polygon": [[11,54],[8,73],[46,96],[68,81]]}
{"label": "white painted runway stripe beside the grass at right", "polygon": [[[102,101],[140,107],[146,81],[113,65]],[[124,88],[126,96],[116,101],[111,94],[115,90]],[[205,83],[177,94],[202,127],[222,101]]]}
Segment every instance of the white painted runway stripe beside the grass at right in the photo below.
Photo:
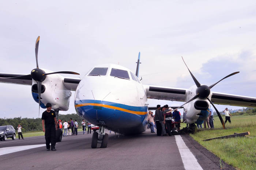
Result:
{"label": "white painted runway stripe beside the grass at right", "polygon": [[180,151],[180,156],[184,165],[185,170],[203,170],[197,162],[195,156],[186,146],[180,135],[175,135],[175,140]]}

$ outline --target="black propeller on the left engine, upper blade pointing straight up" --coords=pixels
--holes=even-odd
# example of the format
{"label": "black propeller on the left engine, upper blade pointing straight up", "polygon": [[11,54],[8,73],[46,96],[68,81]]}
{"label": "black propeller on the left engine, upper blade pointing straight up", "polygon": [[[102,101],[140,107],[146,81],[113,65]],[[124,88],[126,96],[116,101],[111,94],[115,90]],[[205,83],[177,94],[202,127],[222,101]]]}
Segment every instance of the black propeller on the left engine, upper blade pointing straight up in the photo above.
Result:
{"label": "black propeller on the left engine, upper blade pointing straight up", "polygon": [[29,75],[22,75],[22,76],[16,76],[16,77],[10,77],[5,79],[16,79],[16,78],[25,78],[27,76],[31,76],[33,80],[37,82],[37,89],[38,89],[38,103],[39,103],[39,110],[38,110],[38,117],[40,114],[40,102],[41,102],[41,89],[42,89],[42,82],[46,79],[47,75],[51,74],[75,74],[80,75],[79,73],[73,72],[73,71],[58,71],[58,72],[52,72],[52,73],[45,73],[44,70],[40,69],[38,66],[38,47],[39,47],[39,40],[40,36],[37,37],[37,40],[35,41],[35,60],[37,63],[37,68],[33,69]]}

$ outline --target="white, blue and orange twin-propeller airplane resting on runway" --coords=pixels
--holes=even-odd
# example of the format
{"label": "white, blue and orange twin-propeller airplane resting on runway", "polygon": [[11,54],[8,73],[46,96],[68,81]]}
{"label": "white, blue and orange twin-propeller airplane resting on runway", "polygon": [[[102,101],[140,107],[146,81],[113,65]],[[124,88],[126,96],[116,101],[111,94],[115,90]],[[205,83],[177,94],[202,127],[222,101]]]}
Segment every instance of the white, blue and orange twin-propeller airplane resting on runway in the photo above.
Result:
{"label": "white, blue and orange twin-propeller airplane resting on runway", "polygon": [[91,148],[97,148],[98,144],[101,148],[107,147],[108,133],[105,133],[105,129],[120,134],[144,132],[148,116],[147,99],[185,102],[180,107],[183,107],[186,113],[184,122],[191,125],[202,124],[206,120],[211,104],[224,129],[225,124],[215,104],[256,107],[256,98],[211,91],[217,83],[238,72],[231,73],[211,86],[203,85],[193,76],[183,57],[182,60],[196,84],[188,89],[143,85],[138,79],[140,53],[136,74],[121,65],[101,64],[91,68],[82,79],[63,77],[59,74],[78,75],[78,73],[52,72],[39,68],[37,58],[39,39],[40,37],[37,38],[35,45],[37,68],[29,75],[0,73],[0,82],[30,85],[32,97],[39,103],[39,108],[45,108],[46,103],[49,102],[56,116],[59,110],[69,109],[71,91],[75,91],[76,113],[99,126],[99,133],[93,133]]}

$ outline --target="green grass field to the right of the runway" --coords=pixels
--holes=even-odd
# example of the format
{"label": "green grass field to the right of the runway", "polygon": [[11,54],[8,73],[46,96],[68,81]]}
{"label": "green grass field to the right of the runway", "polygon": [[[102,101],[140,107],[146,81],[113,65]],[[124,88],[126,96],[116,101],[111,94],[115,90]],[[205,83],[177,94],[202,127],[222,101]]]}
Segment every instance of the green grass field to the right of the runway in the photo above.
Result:
{"label": "green grass field to the right of the runway", "polygon": [[[256,116],[233,116],[231,124],[226,123],[226,130],[222,128],[218,117],[214,117],[215,129],[201,129],[191,134],[202,146],[213,152],[228,164],[240,170],[256,170]],[[225,117],[223,117],[225,120]],[[253,139],[235,137],[229,139],[215,139],[202,141],[213,137],[250,132]]]}

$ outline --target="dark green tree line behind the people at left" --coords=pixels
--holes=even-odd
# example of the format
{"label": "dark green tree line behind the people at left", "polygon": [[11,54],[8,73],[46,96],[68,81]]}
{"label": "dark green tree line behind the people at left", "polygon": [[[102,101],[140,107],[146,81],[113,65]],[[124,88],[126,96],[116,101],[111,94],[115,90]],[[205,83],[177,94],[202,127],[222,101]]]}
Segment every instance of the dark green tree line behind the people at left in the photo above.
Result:
{"label": "dark green tree line behind the people at left", "polygon": [[[81,122],[83,118],[79,117],[76,113],[59,114],[58,120],[62,120],[64,122],[64,120],[68,121],[70,118],[72,118],[73,121],[76,120],[78,122],[78,128],[82,128]],[[15,130],[17,130],[18,124],[22,125],[22,132],[42,131],[41,118],[0,118],[0,126],[12,125]]]}

